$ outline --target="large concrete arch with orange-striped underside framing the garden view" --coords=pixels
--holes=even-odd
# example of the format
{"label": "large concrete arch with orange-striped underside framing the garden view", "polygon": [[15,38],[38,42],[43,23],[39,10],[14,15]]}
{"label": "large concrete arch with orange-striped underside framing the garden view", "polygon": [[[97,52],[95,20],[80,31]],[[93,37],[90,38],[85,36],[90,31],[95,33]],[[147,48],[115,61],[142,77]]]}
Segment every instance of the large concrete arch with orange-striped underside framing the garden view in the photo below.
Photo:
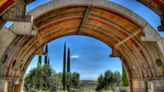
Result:
{"label": "large concrete arch with orange-striped underside framing the garden view", "polygon": [[[112,56],[121,57],[132,92],[163,91],[155,84],[156,89],[147,86],[149,82],[163,79],[163,66],[157,64],[157,60],[164,64],[163,38],[130,10],[106,0],[55,0],[29,15],[34,18],[30,25],[37,30],[37,35],[20,35],[22,32],[14,31],[16,37],[3,42],[6,50],[0,58],[1,77],[21,80],[42,46],[62,36],[86,35],[111,46]],[[22,26],[13,25],[11,30],[20,30]]]}

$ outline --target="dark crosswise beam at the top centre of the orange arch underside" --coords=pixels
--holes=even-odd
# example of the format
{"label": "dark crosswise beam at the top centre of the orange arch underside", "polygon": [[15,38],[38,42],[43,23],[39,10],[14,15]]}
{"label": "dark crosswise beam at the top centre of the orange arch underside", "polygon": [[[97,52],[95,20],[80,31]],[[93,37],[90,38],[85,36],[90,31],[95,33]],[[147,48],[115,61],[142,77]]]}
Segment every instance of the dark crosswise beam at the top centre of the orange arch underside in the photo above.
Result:
{"label": "dark crosswise beam at the top centre of the orange arch underside", "polygon": [[90,15],[90,12],[91,12],[91,9],[92,9],[92,6],[87,6],[85,12],[84,12],[84,16],[83,16],[83,19],[80,23],[80,27],[79,27],[79,31],[78,31],[78,35],[81,35],[82,34],[82,31],[83,31],[83,27],[87,24],[88,22],[88,19],[89,19],[89,15]]}

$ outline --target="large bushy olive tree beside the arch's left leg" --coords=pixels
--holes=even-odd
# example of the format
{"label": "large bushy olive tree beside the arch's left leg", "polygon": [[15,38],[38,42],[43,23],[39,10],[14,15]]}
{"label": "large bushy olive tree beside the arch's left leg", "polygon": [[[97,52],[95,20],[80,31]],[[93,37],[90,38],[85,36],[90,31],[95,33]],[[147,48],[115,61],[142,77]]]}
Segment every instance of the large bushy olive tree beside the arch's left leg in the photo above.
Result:
{"label": "large bushy olive tree beside the arch's left leg", "polygon": [[53,69],[49,65],[37,66],[30,70],[25,77],[25,89],[28,92],[32,90],[48,90],[52,84]]}

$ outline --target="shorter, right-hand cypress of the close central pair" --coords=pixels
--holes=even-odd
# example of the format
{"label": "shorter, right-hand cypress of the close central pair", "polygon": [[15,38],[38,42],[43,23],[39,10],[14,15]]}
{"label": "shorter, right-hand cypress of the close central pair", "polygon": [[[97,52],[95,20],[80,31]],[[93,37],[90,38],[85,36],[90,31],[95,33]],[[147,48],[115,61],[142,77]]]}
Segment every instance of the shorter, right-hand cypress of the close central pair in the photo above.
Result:
{"label": "shorter, right-hand cypress of the close central pair", "polygon": [[67,90],[70,90],[70,77],[71,77],[71,71],[70,71],[70,49],[68,48],[68,54],[67,54]]}

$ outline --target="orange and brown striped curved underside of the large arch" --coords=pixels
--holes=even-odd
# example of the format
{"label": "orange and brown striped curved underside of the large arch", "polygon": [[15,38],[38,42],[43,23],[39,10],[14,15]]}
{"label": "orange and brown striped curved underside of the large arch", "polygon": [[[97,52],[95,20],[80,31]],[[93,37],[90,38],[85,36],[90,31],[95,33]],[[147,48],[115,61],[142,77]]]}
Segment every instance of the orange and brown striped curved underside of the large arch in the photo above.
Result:
{"label": "orange and brown striped curved underside of the large arch", "polygon": [[88,6],[69,6],[37,17],[34,23],[38,35],[15,38],[5,53],[8,58],[1,65],[1,77],[21,78],[39,48],[59,37],[79,35],[79,31],[80,35],[99,39],[116,50],[116,56],[126,65],[129,79],[163,76],[155,62],[163,59],[157,44],[141,41],[145,35],[143,25],[101,7],[91,7],[85,19],[87,9]]}

